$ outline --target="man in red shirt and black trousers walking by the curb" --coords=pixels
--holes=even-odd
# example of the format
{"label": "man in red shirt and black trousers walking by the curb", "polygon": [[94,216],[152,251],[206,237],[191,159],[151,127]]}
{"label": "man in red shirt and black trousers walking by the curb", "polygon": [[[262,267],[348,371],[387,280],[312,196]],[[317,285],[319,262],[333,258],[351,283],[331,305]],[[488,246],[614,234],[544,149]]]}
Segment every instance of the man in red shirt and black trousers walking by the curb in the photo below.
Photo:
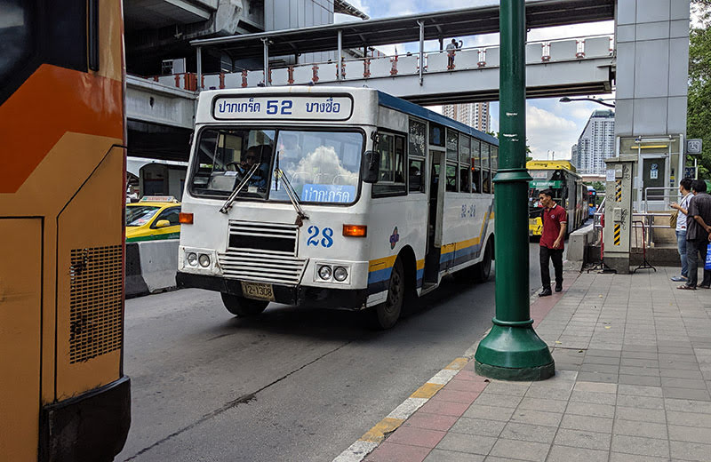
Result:
{"label": "man in red shirt and black trousers walking by the curb", "polygon": [[555,291],[563,291],[563,240],[565,227],[568,226],[568,214],[554,202],[551,189],[541,191],[539,201],[543,207],[543,232],[540,235],[540,280],[543,283],[543,291],[539,293],[539,297],[547,297],[553,293],[550,290],[548,259],[553,260]]}

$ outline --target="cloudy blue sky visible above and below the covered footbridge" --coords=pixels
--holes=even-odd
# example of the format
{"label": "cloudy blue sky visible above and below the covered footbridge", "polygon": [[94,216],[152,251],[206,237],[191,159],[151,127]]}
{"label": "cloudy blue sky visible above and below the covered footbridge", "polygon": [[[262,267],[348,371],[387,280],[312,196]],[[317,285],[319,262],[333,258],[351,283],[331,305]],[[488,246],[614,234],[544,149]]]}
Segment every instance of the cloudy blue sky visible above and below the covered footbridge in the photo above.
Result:
{"label": "cloudy blue sky visible above and below the covered footbridge", "polygon": [[[391,18],[418,12],[436,12],[471,6],[499,4],[496,0],[348,0],[350,4],[368,14],[372,19]],[[345,15],[336,15],[336,22],[353,20]],[[529,41],[579,36],[612,34],[612,21],[540,28],[531,30]],[[456,37],[464,42],[464,47],[499,44],[498,34],[483,36]],[[448,40],[445,40],[448,42]],[[425,51],[438,49],[436,41],[425,42]],[[377,47],[388,55],[403,52],[418,52],[419,44],[393,44]],[[614,98],[613,94],[595,95],[605,99]],[[580,97],[582,98],[582,97]],[[526,102],[526,138],[531,147],[531,156],[535,159],[570,159],[571,147],[578,141],[585,128],[587,119],[595,109],[605,107],[586,101],[561,103],[559,98],[528,100]],[[440,107],[432,107],[440,111]],[[499,129],[499,103],[491,103],[491,129]]]}

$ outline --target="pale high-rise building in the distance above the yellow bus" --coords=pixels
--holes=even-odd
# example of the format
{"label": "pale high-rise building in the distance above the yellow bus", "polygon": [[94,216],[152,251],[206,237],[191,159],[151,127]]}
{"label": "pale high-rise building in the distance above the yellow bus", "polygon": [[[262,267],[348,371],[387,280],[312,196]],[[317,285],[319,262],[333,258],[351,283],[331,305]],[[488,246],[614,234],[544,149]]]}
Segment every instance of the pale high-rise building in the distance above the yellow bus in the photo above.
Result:
{"label": "pale high-rise building in the distance above the yellow bus", "polygon": [[593,111],[577,146],[579,173],[604,174],[604,160],[615,155],[615,111]]}

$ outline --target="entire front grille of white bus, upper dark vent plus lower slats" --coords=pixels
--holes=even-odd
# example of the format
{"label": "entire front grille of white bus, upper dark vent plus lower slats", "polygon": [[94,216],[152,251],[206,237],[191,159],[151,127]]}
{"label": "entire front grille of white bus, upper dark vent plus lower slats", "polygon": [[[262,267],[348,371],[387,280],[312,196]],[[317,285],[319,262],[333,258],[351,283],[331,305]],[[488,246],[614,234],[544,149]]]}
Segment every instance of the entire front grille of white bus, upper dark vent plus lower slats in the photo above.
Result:
{"label": "entire front grille of white bus, upper dark vent plus lower slats", "polygon": [[255,283],[296,285],[307,260],[297,254],[295,225],[230,221],[228,250],[219,253],[225,277]]}

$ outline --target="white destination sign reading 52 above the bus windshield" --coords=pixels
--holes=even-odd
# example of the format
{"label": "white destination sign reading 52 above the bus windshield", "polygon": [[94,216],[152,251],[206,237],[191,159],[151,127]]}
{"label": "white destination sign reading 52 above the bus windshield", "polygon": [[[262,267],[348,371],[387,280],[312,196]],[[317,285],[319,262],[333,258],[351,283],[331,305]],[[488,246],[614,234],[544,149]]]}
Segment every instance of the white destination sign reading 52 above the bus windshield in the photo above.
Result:
{"label": "white destination sign reading 52 above the bus windshield", "polygon": [[217,98],[216,119],[347,120],[353,111],[348,96],[260,96]]}

